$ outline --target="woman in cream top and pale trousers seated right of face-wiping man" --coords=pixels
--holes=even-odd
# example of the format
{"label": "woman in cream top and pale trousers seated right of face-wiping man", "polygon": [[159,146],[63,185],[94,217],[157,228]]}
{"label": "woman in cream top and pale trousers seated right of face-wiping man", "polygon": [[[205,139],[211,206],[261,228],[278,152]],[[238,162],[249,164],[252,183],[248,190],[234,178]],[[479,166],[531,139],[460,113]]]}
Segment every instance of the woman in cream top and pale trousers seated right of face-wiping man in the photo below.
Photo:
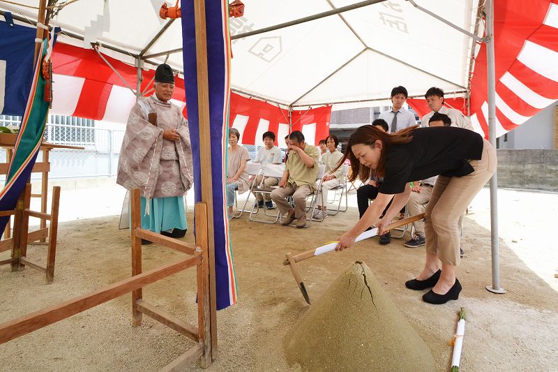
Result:
{"label": "woman in cream top and pale trousers seated right of face-wiping man", "polygon": [[337,150],[339,140],[332,134],[326,138],[326,145],[329,152],[322,154],[322,163],[326,166],[324,178],[322,179],[322,195],[318,195],[318,208],[312,217],[324,219],[327,217],[327,192],[339,186],[343,177],[343,168],[339,167],[339,161],[343,158],[341,151]]}

